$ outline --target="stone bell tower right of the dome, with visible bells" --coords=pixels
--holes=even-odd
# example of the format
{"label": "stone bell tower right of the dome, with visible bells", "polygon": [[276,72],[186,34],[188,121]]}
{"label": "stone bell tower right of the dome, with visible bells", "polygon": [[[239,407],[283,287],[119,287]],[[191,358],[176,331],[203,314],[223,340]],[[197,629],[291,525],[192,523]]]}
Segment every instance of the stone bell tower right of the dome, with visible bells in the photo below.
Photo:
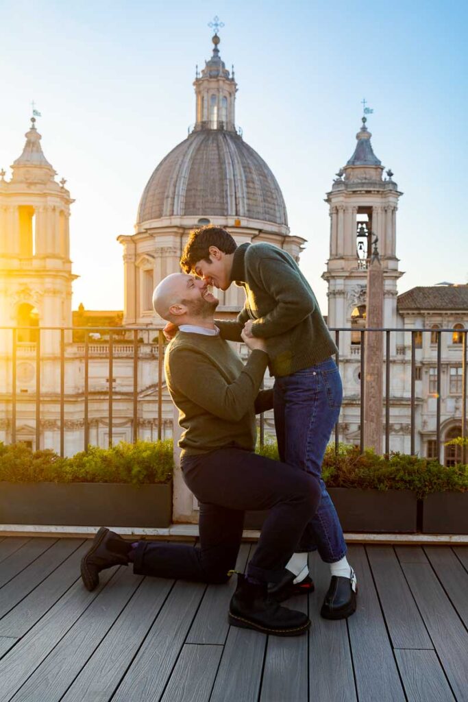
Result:
{"label": "stone bell tower right of the dome, with visible bells", "polygon": [[383,324],[396,326],[396,282],[402,273],[396,258],[396,210],[401,192],[393,173],[386,171],[373,152],[366,117],[356,134],[354,154],[340,168],[327,193],[330,207],[330,258],[322,277],[328,282],[328,326],[353,327],[340,335],[340,352],[359,344],[359,327],[365,326],[366,287],[371,241],[377,247],[383,269]]}

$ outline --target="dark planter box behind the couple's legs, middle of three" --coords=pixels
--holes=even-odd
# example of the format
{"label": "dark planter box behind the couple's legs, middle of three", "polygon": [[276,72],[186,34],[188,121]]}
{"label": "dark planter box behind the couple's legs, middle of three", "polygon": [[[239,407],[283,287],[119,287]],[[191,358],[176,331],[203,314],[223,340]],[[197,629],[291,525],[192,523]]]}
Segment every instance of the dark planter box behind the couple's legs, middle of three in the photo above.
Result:
{"label": "dark planter box behind the couple's legs, middle of three", "polygon": [[[370,533],[416,531],[417,499],[410,490],[328,489],[343,531]],[[261,529],[267,512],[247,512],[245,529]]]}

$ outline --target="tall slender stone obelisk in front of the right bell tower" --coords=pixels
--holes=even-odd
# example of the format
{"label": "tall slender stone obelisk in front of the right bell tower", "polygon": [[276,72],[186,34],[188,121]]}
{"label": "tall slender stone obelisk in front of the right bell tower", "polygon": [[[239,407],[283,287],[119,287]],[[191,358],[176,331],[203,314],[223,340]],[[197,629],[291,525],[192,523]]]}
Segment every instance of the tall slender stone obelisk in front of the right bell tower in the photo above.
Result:
{"label": "tall slender stone obelisk in front of the right bell tower", "polygon": [[[384,274],[377,251],[377,237],[367,275],[366,327],[382,328]],[[364,446],[382,453],[382,369],[384,365],[383,332],[368,331],[365,335]]]}

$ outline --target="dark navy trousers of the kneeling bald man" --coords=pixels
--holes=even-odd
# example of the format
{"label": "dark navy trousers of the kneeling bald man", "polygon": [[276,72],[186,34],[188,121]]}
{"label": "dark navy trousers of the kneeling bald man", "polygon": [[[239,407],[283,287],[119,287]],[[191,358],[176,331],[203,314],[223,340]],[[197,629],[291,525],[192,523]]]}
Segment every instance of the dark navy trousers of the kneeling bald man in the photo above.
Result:
{"label": "dark navy trousers of the kneeling bald man", "polygon": [[234,448],[182,458],[182,472],[200,503],[200,545],[141,541],[135,573],[224,583],[236,564],[244,511],[269,510],[247,574],[279,581],[319,506],[319,480],[295,466]]}

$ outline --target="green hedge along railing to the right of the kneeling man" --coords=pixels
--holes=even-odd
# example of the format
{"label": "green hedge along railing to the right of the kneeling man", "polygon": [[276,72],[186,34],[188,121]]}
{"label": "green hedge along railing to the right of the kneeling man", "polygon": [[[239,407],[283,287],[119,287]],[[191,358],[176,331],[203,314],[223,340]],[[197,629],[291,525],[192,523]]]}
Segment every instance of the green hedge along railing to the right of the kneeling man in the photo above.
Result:
{"label": "green hedge along railing to the right of the kneeling man", "polygon": [[[258,453],[278,461],[278,447],[272,439],[257,447]],[[413,490],[419,498],[432,492],[468,490],[468,465],[446,468],[427,458],[393,453],[390,458],[377,456],[358,446],[340,444],[327,447],[323,459],[323,479],[328,487],[354,487],[376,490]]]}

